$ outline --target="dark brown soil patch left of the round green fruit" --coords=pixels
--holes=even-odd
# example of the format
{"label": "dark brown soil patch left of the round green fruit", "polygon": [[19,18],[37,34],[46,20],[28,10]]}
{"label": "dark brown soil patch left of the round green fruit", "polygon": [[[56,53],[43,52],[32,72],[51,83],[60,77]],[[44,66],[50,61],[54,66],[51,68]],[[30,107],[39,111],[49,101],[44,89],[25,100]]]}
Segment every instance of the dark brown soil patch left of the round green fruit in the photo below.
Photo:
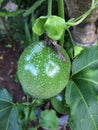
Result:
{"label": "dark brown soil patch left of the round green fruit", "polygon": [[0,88],[6,88],[12,94],[14,102],[22,101],[25,96],[20,83],[15,81],[17,61],[21,52],[18,43],[10,47],[0,44]]}

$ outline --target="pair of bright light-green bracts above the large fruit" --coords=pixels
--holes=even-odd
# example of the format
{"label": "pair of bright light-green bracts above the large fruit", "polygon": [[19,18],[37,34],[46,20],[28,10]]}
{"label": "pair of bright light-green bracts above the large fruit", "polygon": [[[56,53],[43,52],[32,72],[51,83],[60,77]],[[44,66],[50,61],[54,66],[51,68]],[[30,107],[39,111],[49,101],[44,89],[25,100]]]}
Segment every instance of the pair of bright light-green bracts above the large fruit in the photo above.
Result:
{"label": "pair of bright light-green bracts above the large fruit", "polygon": [[37,35],[42,35],[46,31],[47,35],[53,40],[59,40],[64,30],[65,21],[58,16],[41,16],[33,26],[33,31]]}

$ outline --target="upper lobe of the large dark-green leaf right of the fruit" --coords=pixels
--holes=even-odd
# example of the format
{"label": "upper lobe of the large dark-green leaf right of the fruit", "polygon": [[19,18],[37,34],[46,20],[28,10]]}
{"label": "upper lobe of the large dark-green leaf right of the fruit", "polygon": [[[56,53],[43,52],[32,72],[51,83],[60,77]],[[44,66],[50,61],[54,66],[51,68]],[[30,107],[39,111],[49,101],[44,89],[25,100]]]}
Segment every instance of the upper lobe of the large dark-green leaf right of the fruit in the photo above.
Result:
{"label": "upper lobe of the large dark-green leaf right of the fruit", "polygon": [[98,46],[86,47],[73,61],[72,75],[87,69],[96,62],[98,63]]}

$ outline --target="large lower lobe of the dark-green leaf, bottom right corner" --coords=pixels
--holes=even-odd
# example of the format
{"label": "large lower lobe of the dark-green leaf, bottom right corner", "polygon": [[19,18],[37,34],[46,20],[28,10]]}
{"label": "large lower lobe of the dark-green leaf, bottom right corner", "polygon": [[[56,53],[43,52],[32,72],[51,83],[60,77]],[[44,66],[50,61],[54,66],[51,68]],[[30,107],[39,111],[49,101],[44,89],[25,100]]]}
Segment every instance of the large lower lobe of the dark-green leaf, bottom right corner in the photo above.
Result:
{"label": "large lower lobe of the dark-green leaf, bottom right corner", "polygon": [[98,130],[98,96],[94,84],[87,81],[70,81],[66,100],[71,113],[69,125],[72,130]]}

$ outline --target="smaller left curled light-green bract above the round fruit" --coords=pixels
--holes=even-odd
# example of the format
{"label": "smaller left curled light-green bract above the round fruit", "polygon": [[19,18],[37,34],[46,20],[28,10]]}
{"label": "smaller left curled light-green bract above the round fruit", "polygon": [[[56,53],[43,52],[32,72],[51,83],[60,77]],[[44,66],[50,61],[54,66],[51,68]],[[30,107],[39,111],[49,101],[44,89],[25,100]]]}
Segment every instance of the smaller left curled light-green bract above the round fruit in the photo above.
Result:
{"label": "smaller left curled light-green bract above the round fruit", "polygon": [[41,16],[38,19],[36,19],[32,29],[37,35],[42,35],[44,33],[45,31],[44,24],[46,20],[47,20],[47,16]]}

